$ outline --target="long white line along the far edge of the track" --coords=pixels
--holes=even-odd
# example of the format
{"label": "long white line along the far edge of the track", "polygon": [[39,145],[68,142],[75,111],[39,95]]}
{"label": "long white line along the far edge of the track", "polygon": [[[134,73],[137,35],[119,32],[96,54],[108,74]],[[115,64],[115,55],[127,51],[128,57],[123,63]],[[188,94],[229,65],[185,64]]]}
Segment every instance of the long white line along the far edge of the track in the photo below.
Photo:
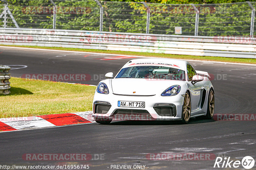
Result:
{"label": "long white line along the far edge of the track", "polygon": [[[13,47],[13,46],[0,46],[0,48],[1,48],[1,47],[3,47],[3,48],[16,48],[16,49],[23,49],[23,50],[40,50],[40,51],[67,52],[67,53],[84,53],[84,54],[98,54],[98,55],[122,55],[122,56],[139,57],[139,58],[164,58],[164,57],[145,57],[145,56],[139,56],[139,55],[123,55],[123,54],[109,54],[109,53],[92,53],[92,52],[81,52],[81,51],[51,50],[51,49]],[[153,53],[152,53],[152,54],[153,54]],[[211,62],[211,63],[220,63],[220,64],[238,64],[238,65],[256,66],[256,64],[232,63],[232,62],[222,62],[222,61],[189,60],[189,59],[179,59],[179,60],[197,61],[197,62]]]}

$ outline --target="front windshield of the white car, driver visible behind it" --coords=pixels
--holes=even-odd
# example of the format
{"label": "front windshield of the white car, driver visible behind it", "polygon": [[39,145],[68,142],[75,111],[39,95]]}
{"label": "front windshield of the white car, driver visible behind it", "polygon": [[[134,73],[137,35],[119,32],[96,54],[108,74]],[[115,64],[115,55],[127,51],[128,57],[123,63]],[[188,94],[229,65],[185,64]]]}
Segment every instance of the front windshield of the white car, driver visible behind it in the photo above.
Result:
{"label": "front windshield of the white car, driver visible behind it", "polygon": [[116,78],[152,78],[185,81],[185,71],[160,66],[135,66],[123,68]]}

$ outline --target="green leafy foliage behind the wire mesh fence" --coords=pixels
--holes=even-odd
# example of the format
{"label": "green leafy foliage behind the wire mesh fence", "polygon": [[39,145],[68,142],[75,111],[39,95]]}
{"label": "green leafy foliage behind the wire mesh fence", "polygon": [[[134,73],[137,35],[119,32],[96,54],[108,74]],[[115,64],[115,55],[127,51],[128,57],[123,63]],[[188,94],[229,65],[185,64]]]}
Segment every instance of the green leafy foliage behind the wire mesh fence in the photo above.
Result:
{"label": "green leafy foliage behind the wire mesh fence", "polygon": [[[7,1],[13,17],[21,28],[53,27],[53,4],[50,0]],[[99,31],[100,6],[96,1],[54,0],[54,2],[57,5],[56,29]],[[182,35],[194,35],[196,9],[190,5],[193,3],[199,10],[198,35],[250,35],[252,10],[244,0],[146,0],[145,2],[150,8],[149,33],[152,34],[174,34],[175,27],[181,26]],[[147,7],[140,0],[100,1],[100,4],[103,9],[103,31],[146,33]],[[256,8],[256,2],[252,2],[252,5]],[[0,3],[0,8],[4,8],[3,1]],[[40,9],[43,8],[48,9],[49,12],[40,13]],[[83,10],[79,11],[78,8]],[[0,25],[4,25],[3,18],[0,19]],[[15,27],[9,15],[7,27]]]}

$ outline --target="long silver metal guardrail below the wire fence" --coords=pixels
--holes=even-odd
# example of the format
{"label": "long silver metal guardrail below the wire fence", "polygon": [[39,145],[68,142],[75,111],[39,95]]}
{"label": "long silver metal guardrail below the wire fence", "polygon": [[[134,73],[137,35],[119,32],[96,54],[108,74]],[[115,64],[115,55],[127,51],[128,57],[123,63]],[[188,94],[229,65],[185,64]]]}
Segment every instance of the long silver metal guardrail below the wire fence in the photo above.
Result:
{"label": "long silver metal guardrail below the wire fence", "polygon": [[0,28],[4,45],[256,58],[256,39],[121,32]]}

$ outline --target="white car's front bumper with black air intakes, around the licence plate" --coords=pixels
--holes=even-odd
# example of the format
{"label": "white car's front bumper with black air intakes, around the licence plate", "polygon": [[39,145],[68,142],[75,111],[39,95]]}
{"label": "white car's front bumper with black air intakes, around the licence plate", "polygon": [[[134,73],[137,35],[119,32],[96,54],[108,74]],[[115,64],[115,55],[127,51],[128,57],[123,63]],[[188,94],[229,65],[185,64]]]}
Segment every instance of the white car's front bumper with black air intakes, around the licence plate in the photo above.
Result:
{"label": "white car's front bumper with black air intakes, around the licence plate", "polygon": [[[145,108],[118,107],[118,101],[145,102]],[[181,120],[183,101],[184,97],[179,94],[175,96],[124,96],[95,92],[92,117],[119,120]],[[99,106],[101,106],[100,112]],[[164,109],[168,107],[170,107],[170,115],[164,113]]]}

